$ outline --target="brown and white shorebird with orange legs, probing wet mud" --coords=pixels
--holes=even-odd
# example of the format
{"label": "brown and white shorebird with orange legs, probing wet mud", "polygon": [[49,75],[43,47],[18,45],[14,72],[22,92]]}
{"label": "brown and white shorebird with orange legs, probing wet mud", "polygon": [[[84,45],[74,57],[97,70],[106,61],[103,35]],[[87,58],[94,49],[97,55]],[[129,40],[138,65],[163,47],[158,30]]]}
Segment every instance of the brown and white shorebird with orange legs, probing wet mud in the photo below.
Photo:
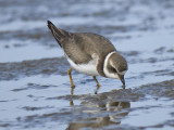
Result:
{"label": "brown and white shorebird with orange legs, probing wet mud", "polygon": [[75,88],[71,75],[72,69],[92,76],[98,86],[97,90],[100,83],[96,76],[120,79],[125,87],[124,75],[128,69],[127,62],[109,39],[91,32],[70,32],[57,28],[50,21],[47,23],[71,65],[67,73],[72,93]]}

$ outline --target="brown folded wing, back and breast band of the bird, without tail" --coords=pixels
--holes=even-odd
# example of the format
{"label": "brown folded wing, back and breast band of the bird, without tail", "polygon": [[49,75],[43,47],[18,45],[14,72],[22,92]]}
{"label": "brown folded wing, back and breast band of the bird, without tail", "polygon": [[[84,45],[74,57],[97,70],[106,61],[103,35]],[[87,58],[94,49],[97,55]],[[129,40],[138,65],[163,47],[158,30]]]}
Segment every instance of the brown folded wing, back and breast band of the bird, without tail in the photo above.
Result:
{"label": "brown folded wing, back and breast band of the bird, without tail", "polygon": [[90,32],[73,34],[72,38],[64,43],[65,53],[76,63],[87,63],[92,60],[92,54],[99,56],[97,69],[103,74],[103,62],[108,53],[116,51],[114,46],[104,37]]}

